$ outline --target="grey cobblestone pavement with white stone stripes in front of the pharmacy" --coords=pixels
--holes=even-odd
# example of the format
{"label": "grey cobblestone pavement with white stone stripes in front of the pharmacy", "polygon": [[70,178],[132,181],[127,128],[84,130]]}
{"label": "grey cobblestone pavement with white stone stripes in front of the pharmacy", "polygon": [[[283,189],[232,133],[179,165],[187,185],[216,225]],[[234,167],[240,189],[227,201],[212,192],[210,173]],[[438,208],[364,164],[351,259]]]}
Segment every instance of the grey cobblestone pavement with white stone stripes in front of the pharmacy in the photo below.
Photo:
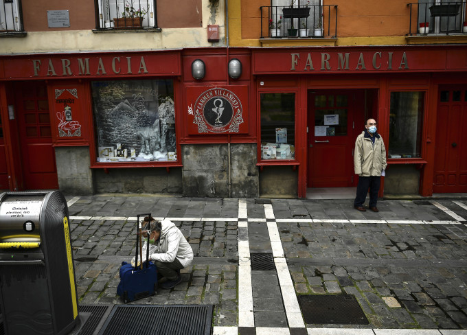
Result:
{"label": "grey cobblestone pavement with white stone stripes in front of the pharmacy", "polygon": [[[67,201],[80,303],[123,303],[119,266],[135,253],[136,215],[150,212],[181,229],[195,258],[181,284],[134,303],[215,305],[214,334],[467,334],[465,198],[384,200],[378,213],[352,200]],[[250,253],[271,253],[275,269],[252,270]],[[344,293],[368,325],[304,323],[297,295]]]}

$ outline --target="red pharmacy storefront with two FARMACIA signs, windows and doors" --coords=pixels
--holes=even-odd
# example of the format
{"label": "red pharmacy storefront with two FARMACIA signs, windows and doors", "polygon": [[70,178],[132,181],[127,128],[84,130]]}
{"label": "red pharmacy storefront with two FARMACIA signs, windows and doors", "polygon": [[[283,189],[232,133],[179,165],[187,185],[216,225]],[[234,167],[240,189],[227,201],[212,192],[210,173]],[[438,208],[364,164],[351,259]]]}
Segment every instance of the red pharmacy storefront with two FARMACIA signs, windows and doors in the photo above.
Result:
{"label": "red pharmacy storefront with two FARMACIA signs, windows and doors", "polygon": [[356,185],[354,141],[372,117],[388,151],[381,195],[467,192],[466,75],[465,45],[5,56],[0,189],[138,192],[111,185],[165,173],[166,193],[304,198]]}

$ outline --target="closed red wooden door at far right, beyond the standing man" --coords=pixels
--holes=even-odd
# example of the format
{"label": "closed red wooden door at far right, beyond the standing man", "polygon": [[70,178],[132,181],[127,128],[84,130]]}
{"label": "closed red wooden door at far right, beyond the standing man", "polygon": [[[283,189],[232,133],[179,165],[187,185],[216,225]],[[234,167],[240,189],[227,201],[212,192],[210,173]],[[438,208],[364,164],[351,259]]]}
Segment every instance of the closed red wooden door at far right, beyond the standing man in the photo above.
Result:
{"label": "closed red wooden door at far right, beyond the standing man", "polygon": [[467,192],[467,86],[440,87],[433,193]]}

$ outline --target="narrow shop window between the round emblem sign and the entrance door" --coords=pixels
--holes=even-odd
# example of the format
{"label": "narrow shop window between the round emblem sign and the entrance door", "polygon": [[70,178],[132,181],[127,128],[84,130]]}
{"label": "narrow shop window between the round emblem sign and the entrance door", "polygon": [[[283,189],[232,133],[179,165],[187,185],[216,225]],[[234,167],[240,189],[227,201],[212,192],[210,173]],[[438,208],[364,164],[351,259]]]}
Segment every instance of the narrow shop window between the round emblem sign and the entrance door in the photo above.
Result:
{"label": "narrow shop window between the round emblem sign and the entrance door", "polygon": [[295,159],[295,93],[262,93],[261,159]]}

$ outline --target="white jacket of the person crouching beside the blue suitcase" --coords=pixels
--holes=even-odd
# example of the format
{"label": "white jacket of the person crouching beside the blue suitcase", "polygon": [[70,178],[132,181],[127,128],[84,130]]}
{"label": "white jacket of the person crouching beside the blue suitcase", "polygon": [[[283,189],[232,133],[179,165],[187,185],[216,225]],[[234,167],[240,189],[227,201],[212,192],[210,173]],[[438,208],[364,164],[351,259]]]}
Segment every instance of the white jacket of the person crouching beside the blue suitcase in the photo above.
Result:
{"label": "white jacket of the person crouching beside the blue suitcase", "polygon": [[[144,246],[146,249],[146,244]],[[180,229],[170,220],[162,221],[161,237],[154,246],[149,247],[150,259],[164,263],[172,263],[179,259],[184,268],[192,264],[193,249]],[[143,252],[146,255],[146,250]]]}

